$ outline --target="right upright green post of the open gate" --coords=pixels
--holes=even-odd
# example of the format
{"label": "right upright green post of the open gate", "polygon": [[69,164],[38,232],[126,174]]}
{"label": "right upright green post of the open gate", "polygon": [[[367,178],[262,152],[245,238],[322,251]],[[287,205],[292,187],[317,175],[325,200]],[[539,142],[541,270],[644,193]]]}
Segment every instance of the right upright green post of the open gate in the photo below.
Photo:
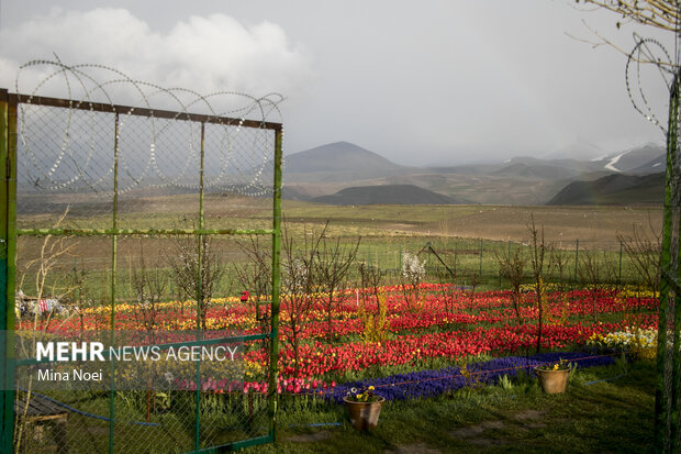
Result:
{"label": "right upright green post of the open gate", "polygon": [[267,389],[270,435],[277,442],[277,374],[279,372],[279,279],[281,248],[281,147],[283,131],[275,132],[275,181],[272,191],[272,309],[269,351],[269,385]]}

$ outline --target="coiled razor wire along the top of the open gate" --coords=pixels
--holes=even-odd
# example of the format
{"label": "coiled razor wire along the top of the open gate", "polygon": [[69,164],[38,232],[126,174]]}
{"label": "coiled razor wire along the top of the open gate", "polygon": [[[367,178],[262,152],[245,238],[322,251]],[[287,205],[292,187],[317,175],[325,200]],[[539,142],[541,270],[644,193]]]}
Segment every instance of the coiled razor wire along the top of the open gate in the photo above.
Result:
{"label": "coiled razor wire along the top of the open gate", "polygon": [[[22,90],[27,71],[33,78],[37,74],[40,79],[33,88]],[[247,196],[263,196],[272,190],[271,180],[266,181],[265,176],[269,175],[268,167],[273,168],[273,133],[264,128],[246,128],[244,122],[280,123],[281,95],[268,93],[260,98],[236,91],[200,95],[192,89],[164,88],[136,80],[103,65],[68,66],[57,56],[55,60],[36,59],[22,65],[14,88],[26,96],[18,112],[21,152],[25,154],[21,159],[23,175],[20,173],[20,178],[37,191],[87,189],[110,193],[113,150],[105,141],[113,141],[113,121],[107,118],[112,113],[96,111],[93,106],[113,107],[116,97],[131,100],[131,96],[130,104],[135,107],[119,115],[115,135],[121,176],[119,193],[142,187],[199,189],[200,123],[187,121],[190,113],[215,120],[234,119],[220,124],[211,122],[206,128],[203,182],[206,190]],[[46,108],[37,100],[51,90],[66,92],[67,109],[44,111]],[[154,109],[160,108],[176,114],[170,119],[154,117]],[[149,111],[149,117],[136,115],[139,109]],[[172,159],[168,159],[168,154],[174,155]]]}

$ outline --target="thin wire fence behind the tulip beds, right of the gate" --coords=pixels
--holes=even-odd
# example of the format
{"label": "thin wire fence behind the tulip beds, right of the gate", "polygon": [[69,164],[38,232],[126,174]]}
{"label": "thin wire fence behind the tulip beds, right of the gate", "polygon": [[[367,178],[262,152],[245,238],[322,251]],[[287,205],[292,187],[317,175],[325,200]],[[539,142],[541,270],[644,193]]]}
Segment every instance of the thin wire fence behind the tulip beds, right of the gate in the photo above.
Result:
{"label": "thin wire fence behind the tulip beds, right of the gate", "polygon": [[[660,254],[661,235],[652,226],[637,226],[633,232],[614,242],[546,240],[545,279],[583,287],[593,284],[593,279],[611,286],[650,287],[646,273],[655,278],[655,257]],[[365,240],[358,248],[357,261],[379,268],[388,283],[399,283],[403,278],[404,256],[412,254],[423,264],[424,278],[429,281],[464,285],[475,277],[478,284],[504,287],[507,283],[502,265],[515,254],[525,262],[523,280],[534,281],[529,269],[531,248],[527,242],[443,236],[411,237],[401,244]],[[350,274],[349,279],[357,280],[357,276]]]}

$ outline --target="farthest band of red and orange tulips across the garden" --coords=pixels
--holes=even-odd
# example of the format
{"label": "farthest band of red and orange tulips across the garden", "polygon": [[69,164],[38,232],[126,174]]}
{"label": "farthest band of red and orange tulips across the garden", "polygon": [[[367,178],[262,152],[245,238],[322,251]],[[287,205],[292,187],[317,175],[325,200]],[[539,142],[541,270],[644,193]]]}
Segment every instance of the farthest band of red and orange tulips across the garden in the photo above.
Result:
{"label": "farthest band of red and orange tulips across the garden", "polygon": [[[357,295],[364,289],[353,289],[335,296],[332,310],[332,329],[335,335],[359,334],[362,331],[362,321],[358,317]],[[418,332],[433,326],[479,325],[495,324],[505,320],[515,319],[511,308],[510,291],[485,291],[476,294],[472,298],[466,291],[439,284],[422,284],[418,289],[418,301],[413,307],[408,304],[402,289],[399,286],[382,287],[387,296],[389,331],[395,334]],[[357,295],[355,295],[357,292]],[[373,297],[368,297],[369,310],[376,310]],[[537,320],[538,310],[535,296],[523,295],[521,301],[521,317],[526,323]],[[618,295],[614,290],[573,290],[569,292],[551,292],[547,295],[545,317],[547,321],[565,320],[566,318],[583,318],[601,313],[618,313],[627,310],[651,311],[657,307],[655,298],[634,298],[628,294]],[[194,304],[191,302],[163,302],[157,306],[155,315],[156,330],[187,330],[196,328]],[[289,330],[289,318],[286,298],[281,303],[281,331]],[[109,328],[109,306],[82,309],[77,317],[51,321],[51,329],[56,330],[105,330]],[[323,339],[328,334],[326,322],[327,313],[323,298],[315,300],[312,309],[304,317],[304,326],[300,339]],[[138,312],[134,303],[116,303],[115,329],[144,329],[144,315]],[[23,320],[19,328],[32,328],[32,320]],[[260,328],[255,320],[253,304],[244,304],[233,299],[214,300],[206,312],[206,328],[237,329],[246,334],[257,332]]]}

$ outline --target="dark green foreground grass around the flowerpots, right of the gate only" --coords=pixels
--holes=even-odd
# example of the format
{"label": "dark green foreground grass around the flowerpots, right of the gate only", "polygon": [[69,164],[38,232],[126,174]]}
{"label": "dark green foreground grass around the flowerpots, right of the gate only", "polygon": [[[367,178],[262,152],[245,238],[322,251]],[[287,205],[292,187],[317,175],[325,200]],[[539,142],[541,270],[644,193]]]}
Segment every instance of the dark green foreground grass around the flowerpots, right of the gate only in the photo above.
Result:
{"label": "dark green foreground grass around the flowerpots, right of the gate only", "polygon": [[[437,399],[387,402],[378,428],[368,433],[351,429],[343,407],[288,411],[282,402],[276,449],[244,452],[650,452],[654,401],[655,367],[636,362],[580,369],[565,395],[546,395],[525,378]],[[324,422],[342,425],[306,427]]]}

